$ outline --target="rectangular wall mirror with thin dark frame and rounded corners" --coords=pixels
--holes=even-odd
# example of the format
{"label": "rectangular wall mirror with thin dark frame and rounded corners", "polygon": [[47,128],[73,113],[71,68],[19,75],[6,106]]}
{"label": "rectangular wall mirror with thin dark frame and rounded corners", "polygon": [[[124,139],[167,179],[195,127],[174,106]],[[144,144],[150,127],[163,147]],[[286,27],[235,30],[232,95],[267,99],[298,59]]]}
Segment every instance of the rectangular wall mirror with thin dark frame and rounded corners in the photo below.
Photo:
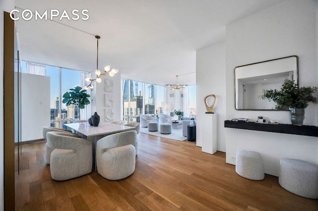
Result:
{"label": "rectangular wall mirror with thin dark frame and rounded corners", "polygon": [[276,110],[276,103],[261,99],[263,90],[280,89],[285,79],[298,83],[298,57],[288,56],[235,68],[235,108]]}

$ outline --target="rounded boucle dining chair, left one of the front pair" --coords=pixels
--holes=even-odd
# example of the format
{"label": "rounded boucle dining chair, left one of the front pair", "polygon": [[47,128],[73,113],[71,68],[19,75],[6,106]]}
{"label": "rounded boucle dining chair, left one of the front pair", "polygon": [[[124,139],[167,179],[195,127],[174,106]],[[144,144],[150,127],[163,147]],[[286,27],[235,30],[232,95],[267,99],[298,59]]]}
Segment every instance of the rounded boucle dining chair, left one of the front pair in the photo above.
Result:
{"label": "rounded boucle dining chair, left one of the front pair", "polygon": [[51,177],[62,181],[72,179],[92,170],[92,143],[69,133],[48,132],[47,144],[54,150],[50,158]]}

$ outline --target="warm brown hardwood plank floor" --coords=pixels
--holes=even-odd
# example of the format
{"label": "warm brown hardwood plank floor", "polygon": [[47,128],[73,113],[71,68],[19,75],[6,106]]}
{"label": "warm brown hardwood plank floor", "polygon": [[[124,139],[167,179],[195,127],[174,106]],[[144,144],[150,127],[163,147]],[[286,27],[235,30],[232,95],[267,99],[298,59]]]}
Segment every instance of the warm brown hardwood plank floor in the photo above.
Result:
{"label": "warm brown hardwood plank floor", "polygon": [[15,210],[21,211],[317,211],[318,200],[294,195],[278,177],[240,177],[225,153],[201,152],[195,142],[139,135],[135,172],[110,181],[96,171],[54,181],[44,162],[45,142],[22,146]]}

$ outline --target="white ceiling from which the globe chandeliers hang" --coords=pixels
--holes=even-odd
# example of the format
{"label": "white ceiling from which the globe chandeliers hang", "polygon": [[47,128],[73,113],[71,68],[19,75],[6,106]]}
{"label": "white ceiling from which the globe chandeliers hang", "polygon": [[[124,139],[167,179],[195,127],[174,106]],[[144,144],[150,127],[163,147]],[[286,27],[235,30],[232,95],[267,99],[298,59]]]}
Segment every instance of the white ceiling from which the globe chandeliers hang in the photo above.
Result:
{"label": "white ceiling from which the globe chandeliers hang", "polygon": [[[284,0],[15,0],[33,13],[57,9],[48,20],[16,21],[24,60],[84,71],[119,69],[122,78],[195,84],[196,51],[225,41],[226,25]],[[89,19],[59,20],[87,9]],[[80,17],[84,17],[80,14]],[[190,73],[190,74],[188,74]],[[108,77],[108,76],[107,76]]]}

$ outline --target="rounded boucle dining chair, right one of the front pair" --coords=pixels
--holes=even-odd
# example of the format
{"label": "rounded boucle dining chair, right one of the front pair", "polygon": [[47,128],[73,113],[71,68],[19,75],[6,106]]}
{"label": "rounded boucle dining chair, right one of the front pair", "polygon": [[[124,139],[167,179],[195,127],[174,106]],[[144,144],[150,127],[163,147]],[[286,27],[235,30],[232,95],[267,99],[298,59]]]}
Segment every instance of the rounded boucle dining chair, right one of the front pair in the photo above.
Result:
{"label": "rounded boucle dining chair, right one of the front pair", "polygon": [[96,145],[97,172],[109,180],[119,180],[135,171],[137,132],[115,133],[101,138]]}

